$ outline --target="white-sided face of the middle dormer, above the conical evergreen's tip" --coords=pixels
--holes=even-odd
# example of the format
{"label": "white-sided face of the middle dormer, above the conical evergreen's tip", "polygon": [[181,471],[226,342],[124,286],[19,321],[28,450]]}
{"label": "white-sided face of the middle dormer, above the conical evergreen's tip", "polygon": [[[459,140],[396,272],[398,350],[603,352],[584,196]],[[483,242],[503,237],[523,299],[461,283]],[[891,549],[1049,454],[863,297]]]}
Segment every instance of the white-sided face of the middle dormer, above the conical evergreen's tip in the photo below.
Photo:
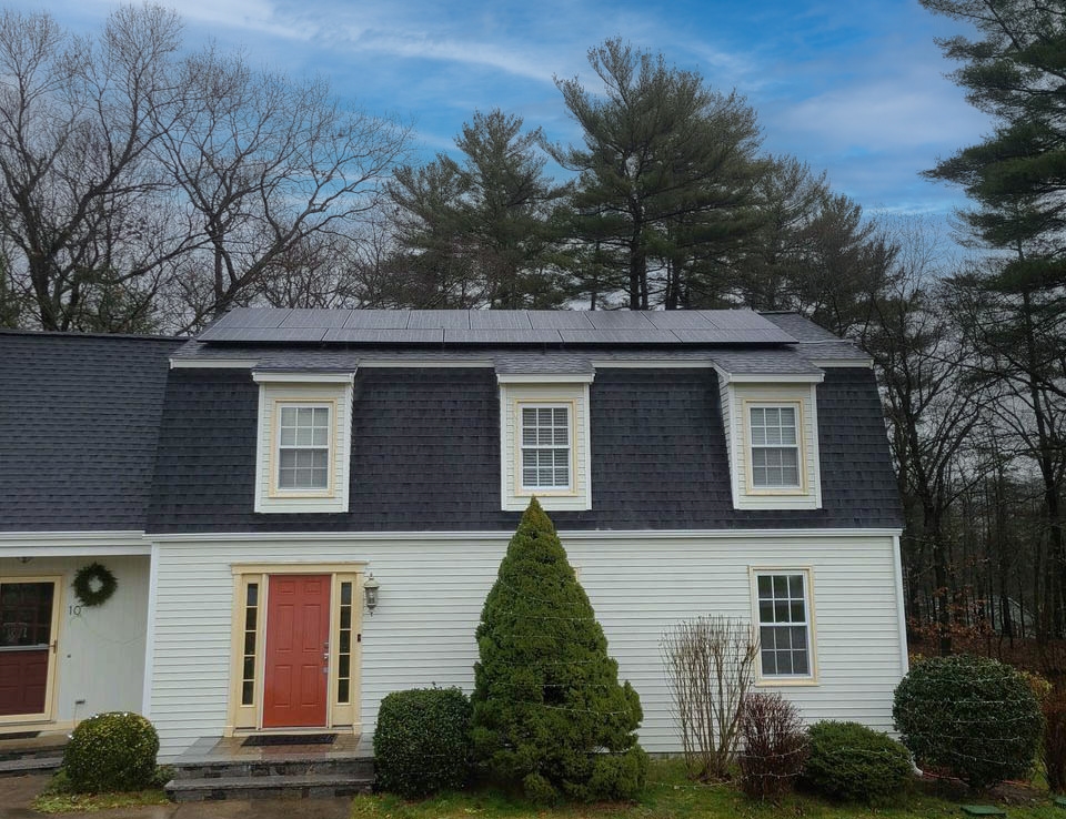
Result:
{"label": "white-sided face of the middle dormer, above the conical evergreen's tip", "polygon": [[[526,435],[527,410],[536,410],[537,442],[543,448],[526,445],[532,441]],[[541,410],[551,410],[549,419]],[[561,441],[562,418],[556,410],[566,412],[569,442],[556,446],[549,441]],[[500,385],[500,495],[501,508],[523,512],[534,495],[549,512],[592,508],[591,447],[589,427],[587,383],[507,383]],[[542,418],[544,422],[541,423]],[[543,435],[541,434],[543,431]],[[536,449],[535,455],[531,453]],[[566,449],[564,453],[563,449]],[[565,463],[564,463],[565,458]],[[535,459],[535,462],[534,462]],[[536,474],[526,466],[536,465]],[[550,474],[551,473],[551,474]],[[552,483],[529,483],[551,479]]]}

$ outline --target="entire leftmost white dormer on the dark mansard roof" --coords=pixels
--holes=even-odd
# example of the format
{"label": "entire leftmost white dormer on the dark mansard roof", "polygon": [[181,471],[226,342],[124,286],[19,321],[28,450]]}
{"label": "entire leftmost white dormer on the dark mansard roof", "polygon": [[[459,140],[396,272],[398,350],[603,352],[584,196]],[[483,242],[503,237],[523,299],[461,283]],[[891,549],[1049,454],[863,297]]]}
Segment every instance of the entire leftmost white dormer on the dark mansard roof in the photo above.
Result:
{"label": "entire leftmost white dormer on the dark mansard roof", "polygon": [[348,512],[352,373],[257,372],[255,512]]}

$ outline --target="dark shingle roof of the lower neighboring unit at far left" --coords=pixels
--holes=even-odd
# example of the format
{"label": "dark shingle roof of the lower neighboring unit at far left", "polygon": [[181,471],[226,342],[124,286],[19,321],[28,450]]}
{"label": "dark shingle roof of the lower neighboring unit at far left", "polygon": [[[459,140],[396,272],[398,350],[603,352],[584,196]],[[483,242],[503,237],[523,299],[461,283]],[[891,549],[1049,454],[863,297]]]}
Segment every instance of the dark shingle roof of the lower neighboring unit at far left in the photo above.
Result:
{"label": "dark shingle roof of the lower neighboring unit at far left", "polygon": [[172,338],[0,332],[0,529],[143,529]]}

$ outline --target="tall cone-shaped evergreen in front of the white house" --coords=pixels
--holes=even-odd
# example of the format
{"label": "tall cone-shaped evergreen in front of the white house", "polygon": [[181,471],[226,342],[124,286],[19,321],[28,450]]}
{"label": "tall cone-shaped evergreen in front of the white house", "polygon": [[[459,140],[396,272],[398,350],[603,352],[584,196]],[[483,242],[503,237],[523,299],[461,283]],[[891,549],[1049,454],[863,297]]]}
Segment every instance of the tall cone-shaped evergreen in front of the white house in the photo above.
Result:
{"label": "tall cone-shaped evergreen in front of the white house", "polygon": [[485,599],[474,666],[474,756],[534,801],[632,799],[647,755],[641,700],[555,527],[534,498]]}

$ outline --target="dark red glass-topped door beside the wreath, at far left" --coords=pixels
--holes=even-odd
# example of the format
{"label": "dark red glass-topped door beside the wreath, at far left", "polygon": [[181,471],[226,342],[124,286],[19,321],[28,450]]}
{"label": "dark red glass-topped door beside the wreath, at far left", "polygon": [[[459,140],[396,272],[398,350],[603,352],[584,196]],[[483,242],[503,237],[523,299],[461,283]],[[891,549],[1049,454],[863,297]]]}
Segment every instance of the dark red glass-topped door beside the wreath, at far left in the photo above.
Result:
{"label": "dark red glass-topped door beside the wreath, at far left", "polygon": [[0,718],[49,717],[54,601],[54,580],[0,583]]}

